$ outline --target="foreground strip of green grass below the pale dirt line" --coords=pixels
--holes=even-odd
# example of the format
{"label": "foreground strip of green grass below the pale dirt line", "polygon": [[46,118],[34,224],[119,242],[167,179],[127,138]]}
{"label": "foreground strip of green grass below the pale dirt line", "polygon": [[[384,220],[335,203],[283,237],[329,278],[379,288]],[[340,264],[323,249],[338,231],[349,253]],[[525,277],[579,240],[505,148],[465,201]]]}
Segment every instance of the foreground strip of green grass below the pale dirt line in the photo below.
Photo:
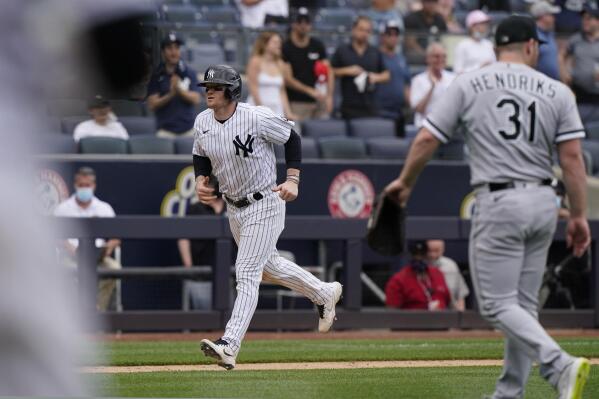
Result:
{"label": "foreground strip of green grass below the pale dirt line", "polygon": [[[104,396],[286,399],[480,399],[493,391],[499,367],[231,371],[94,375]],[[599,369],[593,367],[585,399],[599,397]],[[527,399],[554,398],[533,371]]]}

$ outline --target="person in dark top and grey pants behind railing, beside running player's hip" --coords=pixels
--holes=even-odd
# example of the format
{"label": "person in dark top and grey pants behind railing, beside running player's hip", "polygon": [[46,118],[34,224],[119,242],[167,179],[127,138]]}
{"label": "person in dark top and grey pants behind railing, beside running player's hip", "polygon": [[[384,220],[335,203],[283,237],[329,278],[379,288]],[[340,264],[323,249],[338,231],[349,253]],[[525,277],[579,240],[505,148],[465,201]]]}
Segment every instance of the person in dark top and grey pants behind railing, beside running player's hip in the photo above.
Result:
{"label": "person in dark top and grey pants behind railing, beside running player's hip", "polygon": [[[201,202],[190,204],[187,207],[187,216],[219,216],[225,212],[225,202],[218,190],[218,181],[214,176],[211,176],[210,181],[215,185],[217,198],[209,205],[204,205]],[[216,264],[216,254],[214,249],[214,240],[190,240],[181,238],[177,245],[179,247],[179,255],[183,266],[192,267],[200,265]],[[195,280],[187,280],[185,284],[190,292],[190,299],[193,309],[211,309],[212,308],[212,278],[209,275],[201,276]]]}

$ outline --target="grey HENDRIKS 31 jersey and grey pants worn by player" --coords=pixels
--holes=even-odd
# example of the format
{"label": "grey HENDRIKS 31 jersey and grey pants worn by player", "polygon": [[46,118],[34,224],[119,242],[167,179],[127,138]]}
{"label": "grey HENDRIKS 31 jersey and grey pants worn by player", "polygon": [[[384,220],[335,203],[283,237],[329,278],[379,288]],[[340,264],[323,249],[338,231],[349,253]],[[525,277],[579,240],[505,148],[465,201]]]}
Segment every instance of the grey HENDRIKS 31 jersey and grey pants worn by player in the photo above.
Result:
{"label": "grey HENDRIKS 31 jersey and grey pants worn by player", "polygon": [[[494,398],[520,398],[533,360],[554,386],[572,361],[538,322],[537,307],[557,221],[548,185],[553,147],[584,138],[584,128],[569,88],[526,65],[504,62],[460,75],[424,122],[441,142],[459,125],[476,188],[473,283],[481,314],[506,336]],[[496,190],[490,183],[514,187]]]}

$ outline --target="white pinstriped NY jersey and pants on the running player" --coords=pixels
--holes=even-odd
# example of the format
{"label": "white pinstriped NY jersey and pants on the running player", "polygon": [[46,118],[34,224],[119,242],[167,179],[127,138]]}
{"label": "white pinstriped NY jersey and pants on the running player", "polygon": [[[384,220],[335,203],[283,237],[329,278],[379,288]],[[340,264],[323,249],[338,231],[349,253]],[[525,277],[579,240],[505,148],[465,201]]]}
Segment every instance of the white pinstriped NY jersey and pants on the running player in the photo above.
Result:
{"label": "white pinstriped NY jersey and pants on the running player", "polygon": [[[210,159],[220,191],[233,200],[248,198],[251,202],[244,208],[227,204],[238,246],[237,299],[223,339],[236,352],[256,310],[261,280],[297,291],[317,305],[333,295],[329,284],[282,258],[276,249],[285,226],[285,201],[271,191],[277,179],[273,145],[285,144],[292,126],[266,107],[245,103],[238,103],[224,123],[207,109],[194,124],[193,154]],[[262,200],[253,199],[257,192],[264,196]]]}

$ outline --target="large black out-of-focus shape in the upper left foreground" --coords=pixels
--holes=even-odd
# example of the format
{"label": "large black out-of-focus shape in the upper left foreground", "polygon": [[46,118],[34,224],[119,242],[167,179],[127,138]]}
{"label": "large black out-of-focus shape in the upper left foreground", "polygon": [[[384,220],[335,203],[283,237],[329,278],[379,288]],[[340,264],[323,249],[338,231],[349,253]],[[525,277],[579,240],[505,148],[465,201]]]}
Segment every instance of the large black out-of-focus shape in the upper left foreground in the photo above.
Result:
{"label": "large black out-of-focus shape in the upper left foreground", "polygon": [[142,23],[145,15],[129,15],[107,20],[88,31],[87,50],[92,65],[103,77],[106,85],[102,92],[111,95],[127,93],[148,73],[144,55]]}

